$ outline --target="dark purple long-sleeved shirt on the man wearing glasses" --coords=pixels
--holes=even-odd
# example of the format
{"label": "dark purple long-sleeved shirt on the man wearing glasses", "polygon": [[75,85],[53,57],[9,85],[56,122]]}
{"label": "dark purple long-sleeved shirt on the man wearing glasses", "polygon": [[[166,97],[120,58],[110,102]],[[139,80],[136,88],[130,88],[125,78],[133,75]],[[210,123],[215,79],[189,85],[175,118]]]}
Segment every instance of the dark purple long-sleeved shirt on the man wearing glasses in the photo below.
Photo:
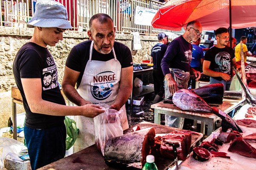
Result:
{"label": "dark purple long-sleeved shirt on the man wearing glasses", "polygon": [[190,71],[192,60],[192,45],[182,36],[170,42],[161,62],[163,75],[169,74],[169,68],[178,68],[183,71]]}

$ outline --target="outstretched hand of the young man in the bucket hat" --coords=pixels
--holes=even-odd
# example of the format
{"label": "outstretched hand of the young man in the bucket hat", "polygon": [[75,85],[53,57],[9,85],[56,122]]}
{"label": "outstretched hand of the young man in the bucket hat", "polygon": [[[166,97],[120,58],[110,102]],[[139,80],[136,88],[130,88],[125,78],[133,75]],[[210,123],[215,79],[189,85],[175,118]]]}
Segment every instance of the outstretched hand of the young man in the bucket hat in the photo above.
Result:
{"label": "outstretched hand of the young man in the bucket hat", "polygon": [[87,104],[81,107],[82,107],[81,116],[86,116],[90,118],[94,118],[95,116],[98,116],[100,113],[105,112],[105,110],[103,110],[102,107],[93,105],[93,104]]}

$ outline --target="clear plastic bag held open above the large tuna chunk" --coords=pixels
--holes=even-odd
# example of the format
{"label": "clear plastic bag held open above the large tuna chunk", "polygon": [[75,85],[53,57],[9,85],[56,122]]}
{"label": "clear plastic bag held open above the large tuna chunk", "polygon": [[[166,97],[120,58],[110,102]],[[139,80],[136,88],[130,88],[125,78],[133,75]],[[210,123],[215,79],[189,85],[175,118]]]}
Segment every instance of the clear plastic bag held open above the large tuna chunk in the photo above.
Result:
{"label": "clear plastic bag held open above the large tuna chunk", "polygon": [[109,108],[108,105],[100,105],[105,112],[93,118],[95,130],[95,144],[104,156],[105,143],[109,138],[123,135],[120,121],[120,111]]}

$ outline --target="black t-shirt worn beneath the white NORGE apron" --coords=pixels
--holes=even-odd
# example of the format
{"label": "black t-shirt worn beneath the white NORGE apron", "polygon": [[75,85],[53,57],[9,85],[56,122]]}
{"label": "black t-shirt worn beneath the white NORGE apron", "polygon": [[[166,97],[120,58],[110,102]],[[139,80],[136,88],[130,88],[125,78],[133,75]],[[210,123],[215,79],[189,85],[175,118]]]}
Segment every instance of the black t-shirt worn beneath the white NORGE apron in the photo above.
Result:
{"label": "black t-shirt worn beneath the white NORGE apron", "polygon": [[[90,52],[91,42],[92,42],[91,40],[88,40],[88,41],[81,42],[78,45],[75,45],[67,57],[66,66],[72,70],[80,72],[79,78],[77,79],[77,82],[76,82],[77,88],[81,83],[85,66],[90,57],[89,52]],[[131,50],[127,46],[125,46],[120,42],[115,41],[114,50],[116,53],[116,59],[120,62],[122,68],[130,67],[133,65]],[[101,54],[93,48],[92,60],[108,61],[113,58],[114,56],[112,51],[109,54]]]}

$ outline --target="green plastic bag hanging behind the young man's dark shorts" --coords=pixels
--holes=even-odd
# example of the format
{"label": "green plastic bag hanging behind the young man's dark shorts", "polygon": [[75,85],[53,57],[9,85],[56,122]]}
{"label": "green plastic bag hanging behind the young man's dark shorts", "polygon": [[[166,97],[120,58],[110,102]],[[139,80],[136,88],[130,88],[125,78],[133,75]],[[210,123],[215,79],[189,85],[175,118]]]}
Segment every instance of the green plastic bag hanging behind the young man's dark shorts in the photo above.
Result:
{"label": "green plastic bag hanging behind the young man's dark shorts", "polygon": [[66,150],[69,150],[70,147],[74,145],[76,142],[79,128],[76,127],[76,122],[74,119],[70,119],[69,117],[65,116],[65,125],[67,130],[67,138],[66,138]]}

